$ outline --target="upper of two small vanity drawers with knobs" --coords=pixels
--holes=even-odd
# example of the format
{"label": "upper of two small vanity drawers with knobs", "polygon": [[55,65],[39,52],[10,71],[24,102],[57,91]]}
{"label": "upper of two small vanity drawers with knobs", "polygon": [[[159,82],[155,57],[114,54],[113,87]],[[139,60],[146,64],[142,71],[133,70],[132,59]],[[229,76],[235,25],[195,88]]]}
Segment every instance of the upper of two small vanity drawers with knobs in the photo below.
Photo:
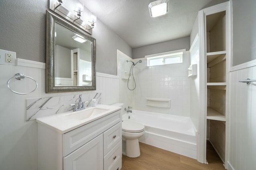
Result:
{"label": "upper of two small vanity drawers with knobs", "polygon": [[106,155],[122,139],[122,122],[103,133],[104,155]]}

